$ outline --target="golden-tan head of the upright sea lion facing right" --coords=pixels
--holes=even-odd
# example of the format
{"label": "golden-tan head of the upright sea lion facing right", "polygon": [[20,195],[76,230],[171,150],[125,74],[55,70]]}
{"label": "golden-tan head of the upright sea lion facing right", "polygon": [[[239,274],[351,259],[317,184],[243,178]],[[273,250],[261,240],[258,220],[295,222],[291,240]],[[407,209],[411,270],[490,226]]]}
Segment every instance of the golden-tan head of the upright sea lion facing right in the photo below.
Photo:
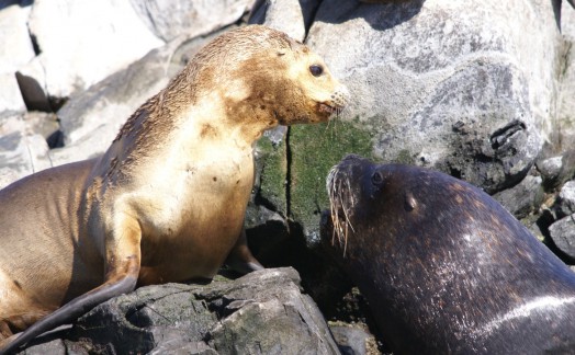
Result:
{"label": "golden-tan head of the upright sea lion facing right", "polygon": [[348,95],[324,60],[286,34],[262,25],[229,31],[207,44],[188,69],[198,95],[218,91],[237,121],[325,122]]}

